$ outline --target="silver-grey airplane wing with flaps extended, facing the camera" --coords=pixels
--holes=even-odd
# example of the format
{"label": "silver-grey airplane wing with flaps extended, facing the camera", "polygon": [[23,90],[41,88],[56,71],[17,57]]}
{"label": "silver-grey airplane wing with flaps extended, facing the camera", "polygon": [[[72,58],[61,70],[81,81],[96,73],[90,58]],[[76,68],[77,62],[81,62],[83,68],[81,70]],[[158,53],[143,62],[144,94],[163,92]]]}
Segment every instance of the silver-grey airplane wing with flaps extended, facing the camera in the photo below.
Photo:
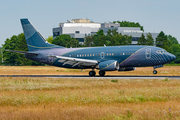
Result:
{"label": "silver-grey airplane wing with flaps extended, facing the camera", "polygon": [[66,64],[72,65],[72,67],[74,67],[76,65],[96,66],[99,63],[97,60],[88,60],[88,59],[63,57],[63,56],[55,56],[55,55],[48,55],[48,56],[49,57],[59,58],[58,62],[63,63],[63,65],[66,65]]}

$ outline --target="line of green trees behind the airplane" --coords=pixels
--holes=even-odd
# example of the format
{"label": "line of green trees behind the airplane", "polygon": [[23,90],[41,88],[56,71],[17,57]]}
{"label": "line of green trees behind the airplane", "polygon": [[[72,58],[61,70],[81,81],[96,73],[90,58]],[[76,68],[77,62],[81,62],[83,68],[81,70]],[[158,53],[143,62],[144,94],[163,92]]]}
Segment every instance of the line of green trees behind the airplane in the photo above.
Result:
{"label": "line of green trees behind the airplane", "polygon": [[[60,45],[67,48],[75,47],[96,47],[96,46],[117,46],[117,45],[131,45],[132,36],[122,35],[117,32],[117,29],[109,29],[105,35],[103,30],[99,30],[96,34],[86,36],[84,38],[84,44],[80,44],[79,40],[72,38],[70,35],[60,35],[53,39],[52,36],[46,39],[49,43]],[[156,45],[166,51],[176,55],[176,60],[172,63],[180,63],[180,44],[175,37],[171,35],[165,35],[163,31],[159,33],[156,40],[153,39],[151,33],[146,36],[144,34],[138,40],[138,45]],[[13,35],[11,38],[7,38],[3,49],[28,51],[24,33],[19,35]],[[0,53],[1,54],[1,53]],[[12,53],[3,51],[3,55],[0,56],[4,62],[2,65],[44,65],[32,60],[28,60],[24,55],[18,53]]]}

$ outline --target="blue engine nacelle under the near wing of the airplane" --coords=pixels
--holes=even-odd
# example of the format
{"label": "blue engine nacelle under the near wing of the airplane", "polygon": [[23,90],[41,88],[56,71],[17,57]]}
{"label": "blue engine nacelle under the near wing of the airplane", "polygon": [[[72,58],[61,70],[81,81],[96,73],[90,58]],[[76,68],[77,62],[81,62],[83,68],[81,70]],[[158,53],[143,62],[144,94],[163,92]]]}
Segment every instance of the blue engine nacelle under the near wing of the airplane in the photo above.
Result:
{"label": "blue engine nacelle under the near wing of the airplane", "polygon": [[115,71],[119,69],[119,63],[116,60],[100,62],[98,69],[102,71]]}

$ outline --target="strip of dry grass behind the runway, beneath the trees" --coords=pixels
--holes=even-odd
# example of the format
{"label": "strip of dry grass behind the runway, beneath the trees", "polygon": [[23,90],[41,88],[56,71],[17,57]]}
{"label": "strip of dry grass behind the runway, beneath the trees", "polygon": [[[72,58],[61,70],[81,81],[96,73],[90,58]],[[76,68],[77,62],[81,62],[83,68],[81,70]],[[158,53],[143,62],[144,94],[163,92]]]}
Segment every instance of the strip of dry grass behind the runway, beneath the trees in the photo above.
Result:
{"label": "strip of dry grass behind the runway, beneath the trees", "polygon": [[[0,66],[0,75],[88,75],[90,69],[66,69],[53,66]],[[106,72],[106,75],[154,75],[152,67],[136,68],[135,71]],[[180,66],[165,66],[157,69],[157,75],[180,75]],[[98,75],[98,70],[96,70]],[[155,76],[157,76],[155,75]]]}

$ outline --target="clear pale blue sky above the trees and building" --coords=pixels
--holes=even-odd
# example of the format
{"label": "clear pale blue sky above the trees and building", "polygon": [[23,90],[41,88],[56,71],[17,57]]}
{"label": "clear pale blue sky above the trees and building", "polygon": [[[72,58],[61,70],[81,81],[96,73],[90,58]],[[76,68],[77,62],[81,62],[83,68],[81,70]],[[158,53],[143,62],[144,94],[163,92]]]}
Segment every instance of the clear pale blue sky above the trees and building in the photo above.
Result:
{"label": "clear pale blue sky above the trees and building", "polygon": [[28,18],[45,37],[67,19],[139,22],[145,32],[163,31],[180,42],[180,0],[0,0],[0,46],[22,33]]}

